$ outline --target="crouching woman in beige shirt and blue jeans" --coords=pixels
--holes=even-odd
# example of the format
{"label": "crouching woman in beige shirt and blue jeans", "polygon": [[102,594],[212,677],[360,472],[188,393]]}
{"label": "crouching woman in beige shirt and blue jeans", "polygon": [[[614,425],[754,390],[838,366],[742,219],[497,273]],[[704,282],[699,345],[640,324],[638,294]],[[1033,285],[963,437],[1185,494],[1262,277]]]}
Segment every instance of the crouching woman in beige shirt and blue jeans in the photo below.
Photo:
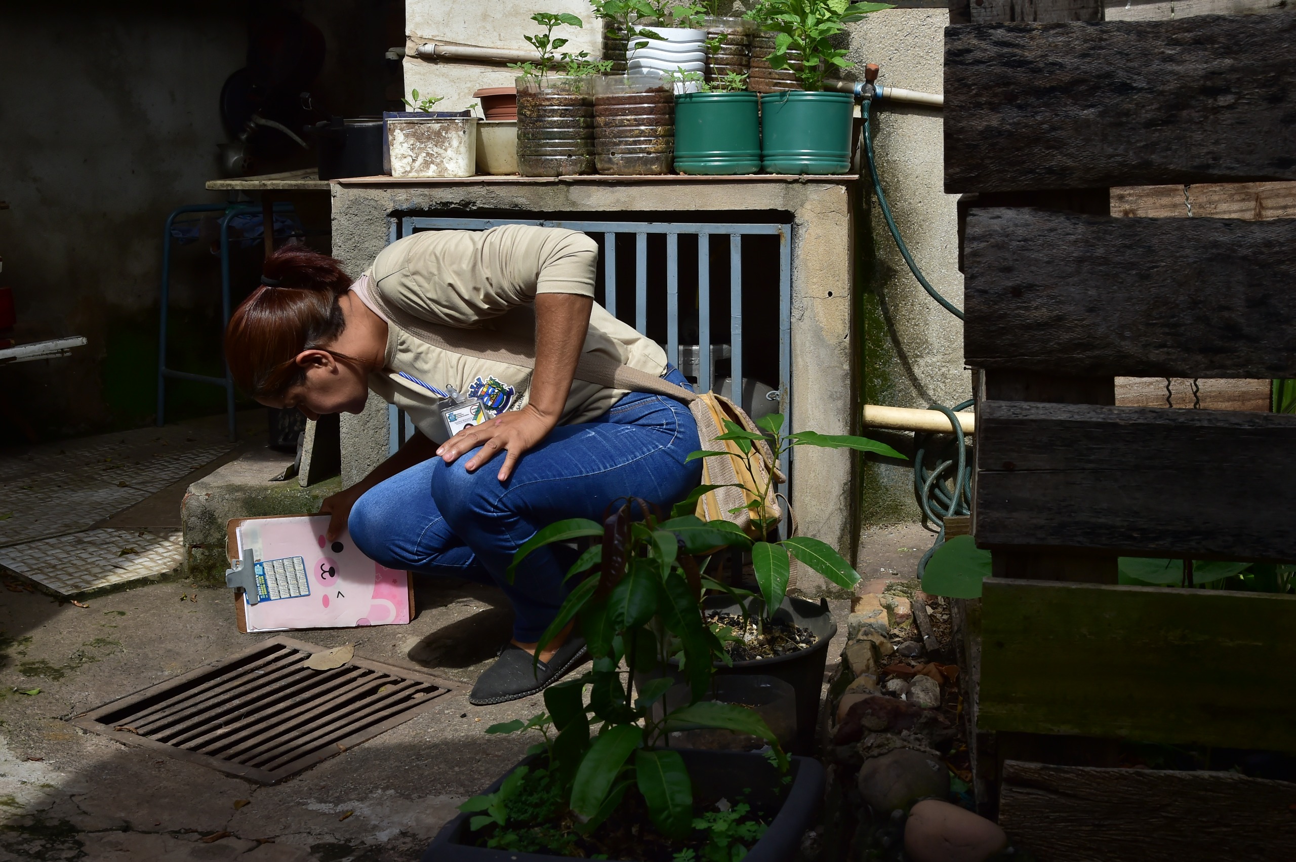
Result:
{"label": "crouching woman in beige shirt and blue jeans", "polygon": [[600,518],[619,496],[670,506],[700,481],[700,461],[686,463],[700,446],[683,402],[577,377],[584,359],[688,388],[656,342],[595,303],[597,254],[556,228],[429,231],[353,280],[289,245],[266,259],[226,333],[235,380],[263,404],[318,419],[359,414],[372,391],[413,420],[398,452],[320,511],[332,535],[350,529],[382,565],[504,591],[513,638],[473,704],[535,693],[587,657],[569,626],[533,661],[577,553],[543,548],[509,582],[522,543],[562,518]]}

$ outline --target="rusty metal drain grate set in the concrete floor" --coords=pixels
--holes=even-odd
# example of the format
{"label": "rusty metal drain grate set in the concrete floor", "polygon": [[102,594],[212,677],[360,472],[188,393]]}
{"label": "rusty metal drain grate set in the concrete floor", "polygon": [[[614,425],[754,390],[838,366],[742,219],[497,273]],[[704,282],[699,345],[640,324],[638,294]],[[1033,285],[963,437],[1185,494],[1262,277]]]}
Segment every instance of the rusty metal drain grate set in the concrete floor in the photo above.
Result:
{"label": "rusty metal drain grate set in the concrete floor", "polygon": [[271,638],[73,723],[273,784],[410,721],[448,691],[441,679],[364,658],[333,670],[303,666],[323,651]]}

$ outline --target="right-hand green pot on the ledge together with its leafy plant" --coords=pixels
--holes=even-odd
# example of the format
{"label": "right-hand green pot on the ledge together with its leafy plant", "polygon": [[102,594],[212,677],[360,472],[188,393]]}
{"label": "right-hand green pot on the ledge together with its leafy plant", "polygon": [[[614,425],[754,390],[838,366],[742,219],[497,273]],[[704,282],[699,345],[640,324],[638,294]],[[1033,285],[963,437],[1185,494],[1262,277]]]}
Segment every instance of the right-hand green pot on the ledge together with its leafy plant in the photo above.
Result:
{"label": "right-hand green pot on the ledge together with its leafy plant", "polygon": [[850,170],[854,100],[849,93],[822,92],[828,71],[853,66],[832,39],[845,25],[871,12],[892,9],[886,3],[846,0],[762,0],[754,14],[774,31],[769,57],[774,70],[789,66],[800,53],[797,78],[804,91],[762,96],[762,166],[771,174],[845,174]]}

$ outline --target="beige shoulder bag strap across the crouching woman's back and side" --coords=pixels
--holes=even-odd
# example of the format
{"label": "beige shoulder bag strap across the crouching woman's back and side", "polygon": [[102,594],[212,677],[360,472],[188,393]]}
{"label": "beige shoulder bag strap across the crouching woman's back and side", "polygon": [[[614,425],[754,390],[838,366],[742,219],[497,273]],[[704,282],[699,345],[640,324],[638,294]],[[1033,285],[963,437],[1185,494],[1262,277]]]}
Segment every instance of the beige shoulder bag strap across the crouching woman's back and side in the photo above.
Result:
{"label": "beige shoulder bag strap across the crouching woman's back and side", "polygon": [[[535,368],[535,342],[529,338],[518,338],[500,332],[487,329],[459,329],[438,323],[420,320],[403,309],[397,309],[372,286],[371,279],[362,279],[359,289],[382,312],[389,323],[394,323],[406,332],[416,336],[433,347],[457,353],[463,356],[486,359],[487,362],[502,362],[520,368]],[[489,334],[487,334],[489,333]],[[485,347],[482,346],[485,342]],[[661,377],[639,371],[630,366],[623,366],[605,356],[594,354],[581,354],[581,360],[575,367],[575,376],[586,382],[599,384],[610,389],[625,389],[629,391],[651,391],[658,395],[669,395],[684,403],[697,399],[697,394],[669,384]]]}

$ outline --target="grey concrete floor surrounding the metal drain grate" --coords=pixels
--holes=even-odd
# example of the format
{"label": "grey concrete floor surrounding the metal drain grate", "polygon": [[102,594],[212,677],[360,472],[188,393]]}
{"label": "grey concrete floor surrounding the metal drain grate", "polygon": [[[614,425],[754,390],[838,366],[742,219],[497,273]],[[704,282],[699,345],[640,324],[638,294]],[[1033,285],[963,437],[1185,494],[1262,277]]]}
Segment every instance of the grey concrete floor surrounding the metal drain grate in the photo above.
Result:
{"label": "grey concrete floor surrounding the metal drain grate", "polygon": [[[927,535],[912,525],[870,530],[861,573],[912,577]],[[96,595],[82,608],[17,578],[0,581],[0,862],[417,859],[456,806],[529,744],[487,738],[485,728],[543,708],[540,697],[468,704],[477,674],[508,638],[512,612],[495,590],[420,581],[420,613],[407,626],[293,636],[355,643],[358,656],[428,670],[452,691],[430,712],[262,787],[67,722],[270,636],[237,631],[227,590],[154,582]],[[832,605],[841,643],[829,647],[828,673],[849,612],[846,601]]]}

